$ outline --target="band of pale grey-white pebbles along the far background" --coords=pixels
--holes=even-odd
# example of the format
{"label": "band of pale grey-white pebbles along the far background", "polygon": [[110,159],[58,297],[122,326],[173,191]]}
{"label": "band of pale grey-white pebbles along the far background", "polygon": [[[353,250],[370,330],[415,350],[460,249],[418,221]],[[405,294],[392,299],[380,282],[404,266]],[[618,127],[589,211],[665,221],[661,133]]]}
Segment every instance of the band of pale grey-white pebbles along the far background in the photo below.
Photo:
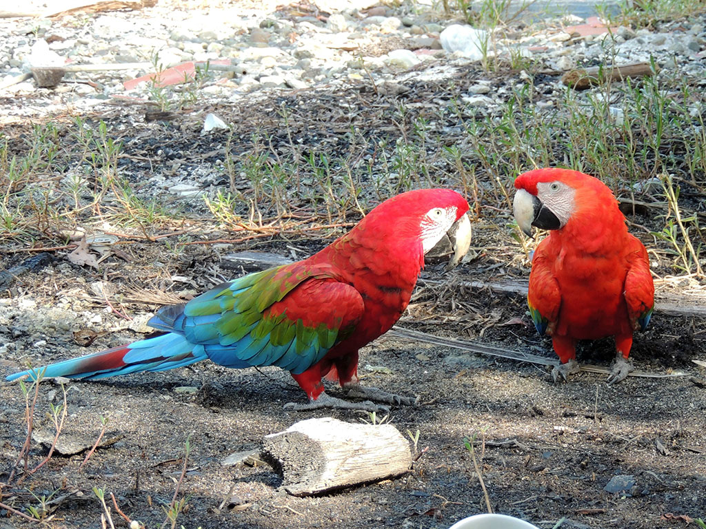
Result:
{"label": "band of pale grey-white pebbles along the far background", "polygon": [[[32,4],[41,0],[28,1]],[[345,85],[367,79],[377,86],[402,85],[403,76],[409,75],[407,70],[424,70],[419,66],[421,63],[428,71],[439,68],[451,72],[484,59],[488,32],[450,23],[439,13],[424,8],[410,13],[404,6],[367,8],[363,4],[354,0],[342,3],[321,0],[318,7],[330,13],[325,21],[286,11],[255,12],[241,7],[184,11],[160,4],[138,11],[77,14],[32,23],[0,19],[0,34],[6,35],[0,39],[0,83],[28,71],[30,64],[41,62],[147,60],[168,68],[188,61],[221,59],[238,64],[239,71],[212,71],[211,75],[220,82],[204,83],[199,90],[204,97],[213,95],[237,101],[244,94],[258,90],[306,90],[319,83]],[[581,25],[585,20],[569,16],[562,23],[568,27]],[[679,68],[685,75],[706,77],[706,61],[702,60],[702,49],[706,47],[705,14],[693,16],[688,23],[684,20],[659,23],[655,30],[622,26],[615,32],[615,45],[609,54],[606,35],[573,38],[568,30],[559,30],[560,27],[549,24],[546,29],[531,32],[509,28],[495,47],[501,56],[517,53],[532,57],[540,69],[566,71],[577,64],[603,63],[606,58],[629,63],[654,56],[663,69]],[[47,43],[47,35],[57,38]],[[397,49],[390,47],[390,42],[395,42]],[[360,47],[369,44],[392,51],[361,55]],[[61,83],[55,89],[37,88],[32,79],[11,86],[5,93],[37,92],[64,98],[61,101],[76,107],[82,104],[90,107],[100,98],[123,94],[124,80],[153,69],[66,75],[66,80],[100,79],[100,90],[87,84],[69,83]],[[522,79],[532,82],[529,76]],[[150,99],[149,90],[149,83],[142,83],[130,95]],[[506,94],[502,90],[505,88],[493,88],[477,80],[468,88],[465,102],[474,107],[489,107],[503,101]],[[544,104],[551,104],[551,99],[537,102],[538,107]],[[616,122],[621,118],[614,117]],[[169,192],[179,197],[201,194],[201,188],[190,184],[170,182],[169,186]]]}

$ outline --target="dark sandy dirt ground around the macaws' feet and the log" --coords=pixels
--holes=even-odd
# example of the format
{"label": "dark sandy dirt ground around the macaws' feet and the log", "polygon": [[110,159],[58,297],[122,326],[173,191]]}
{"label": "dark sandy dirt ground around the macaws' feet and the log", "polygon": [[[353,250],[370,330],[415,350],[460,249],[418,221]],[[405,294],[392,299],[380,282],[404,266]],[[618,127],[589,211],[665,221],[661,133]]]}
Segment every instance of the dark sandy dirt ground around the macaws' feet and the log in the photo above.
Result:
{"label": "dark sandy dirt ground around the macaws' feet and the log", "polygon": [[[153,250],[148,245],[140,250],[142,257],[124,271],[133,278],[150,276],[154,266]],[[191,246],[186,253],[193,260],[192,270],[220,272],[212,251]],[[447,277],[492,279],[482,274],[487,260],[486,255],[462,265]],[[433,267],[424,274],[430,279],[441,276]],[[14,372],[30,358],[51,361],[83,353],[85,348],[76,344],[71,331],[95,328],[97,322],[118,326],[104,303],[85,295],[86,283],[98,279],[95,275],[59,260],[21,278],[22,293],[0,303],[6,309],[0,326],[0,343],[6,344],[0,375]],[[47,284],[52,286],[42,286]],[[71,293],[74,308],[56,306]],[[143,312],[137,309],[131,315]],[[422,312],[435,317],[420,324],[415,314]],[[453,319],[444,322],[447,316]],[[524,318],[525,324],[503,325],[513,318]],[[536,336],[527,321],[520,296],[446,288],[440,298],[438,291],[421,288],[399,326],[551,355],[549,342]],[[656,314],[653,322],[648,332],[637,336],[635,364],[659,374],[696,374],[690,360],[706,359],[704,320]],[[109,332],[90,350],[140,336],[128,330]],[[600,341],[585,347],[580,358],[608,365],[611,348],[610,341]],[[562,518],[562,527],[681,528],[687,518],[680,516],[706,512],[705,389],[689,377],[628,377],[608,387],[605,375],[582,373],[568,384],[554,384],[544,367],[385,337],[362,351],[361,375],[365,384],[421,397],[417,407],[393,407],[388,419],[403,434],[419,430],[417,452],[424,451],[402,478],[300,498],[282,492],[280,478],[267,466],[223,466],[229,454],[256,448],[263,436],[298,420],[331,416],[358,422],[369,417],[352,411],[285,411],[284,403],[304,401],[287,372],[228,370],[201,363],[68,384],[62,435],[89,448],[105,417],[104,439],[112,444],[97,449],[80,471],[85,452],[54,455],[22,485],[4,488],[1,500],[16,509],[39,508],[40,499],[52,495],[49,501],[59,501],[47,506],[52,510],[49,527],[99,527],[101,507],[92,487],[100,487],[106,495],[115,495],[128,516],[157,527],[165,518],[163,505],[172,500],[189,439],[192,448],[180,489],[187,506],[177,526],[445,528],[485,511],[484,494],[464,446],[464,438],[476,436],[493,509],[540,528],[552,528]],[[13,383],[0,384],[0,395],[0,478],[6,479],[25,438],[24,400]],[[61,403],[61,390],[44,382],[35,429],[48,432],[49,439],[54,433],[50,402]],[[46,454],[46,448],[32,443],[30,468]],[[616,475],[632,476],[634,485],[626,492],[606,492],[604,487]],[[120,526],[121,518],[113,518]],[[17,516],[6,523],[33,525]]]}

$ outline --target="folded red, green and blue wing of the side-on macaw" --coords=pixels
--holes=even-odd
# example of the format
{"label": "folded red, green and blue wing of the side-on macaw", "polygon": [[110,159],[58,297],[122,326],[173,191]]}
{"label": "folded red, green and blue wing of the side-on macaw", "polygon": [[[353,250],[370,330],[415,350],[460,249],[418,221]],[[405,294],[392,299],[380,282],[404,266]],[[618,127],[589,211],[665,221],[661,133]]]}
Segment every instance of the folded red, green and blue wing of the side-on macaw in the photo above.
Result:
{"label": "folded red, green and blue wing of the side-on macaw", "polygon": [[326,265],[275,267],[222,284],[170,315],[174,332],[228,367],[300,373],[340,343],[364,312],[360,293]]}

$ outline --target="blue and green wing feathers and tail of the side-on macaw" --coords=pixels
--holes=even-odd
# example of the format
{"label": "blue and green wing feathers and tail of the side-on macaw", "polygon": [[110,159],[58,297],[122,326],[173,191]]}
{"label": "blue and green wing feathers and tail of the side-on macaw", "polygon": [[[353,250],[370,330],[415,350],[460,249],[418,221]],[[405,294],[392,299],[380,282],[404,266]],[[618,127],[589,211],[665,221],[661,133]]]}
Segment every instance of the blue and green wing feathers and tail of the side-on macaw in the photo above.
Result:
{"label": "blue and green wing feathers and tail of the side-on macaw", "polygon": [[[302,281],[317,276],[307,270],[281,268],[219,285],[186,305],[164,307],[148,324],[167,334],[51,365],[44,376],[102,379],[174,369],[206,358],[227,367],[276,365],[300,374],[321,360],[347,332],[341,334],[340,329],[324,324],[307,327],[301,318],[290,319],[287,310],[276,315],[265,312]],[[8,380],[32,373],[36,376],[38,371],[16,373]]]}

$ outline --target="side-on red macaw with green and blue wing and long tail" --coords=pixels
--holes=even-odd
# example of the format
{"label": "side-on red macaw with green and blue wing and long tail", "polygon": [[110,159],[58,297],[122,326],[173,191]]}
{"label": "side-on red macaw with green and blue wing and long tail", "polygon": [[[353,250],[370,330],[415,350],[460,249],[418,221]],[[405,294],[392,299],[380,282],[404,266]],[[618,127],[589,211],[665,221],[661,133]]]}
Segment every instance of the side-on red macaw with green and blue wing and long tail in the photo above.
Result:
{"label": "side-on red macaw with green and blue wing and long tail", "polygon": [[400,318],[426,254],[445,245],[453,246],[447,253],[454,252],[454,263],[465,255],[468,209],[452,190],[402,193],[308,259],[234,279],[186,305],[160,309],[149,324],[166,334],[7,379],[35,379],[44,369],[44,377],[101,379],[208,358],[226,367],[276,365],[291,372],[309,403],[289,403],[289,408],[378,409],[328,396],[323,377],[337,379],[349,396],[412,403],[360,387],[358,351]]}

